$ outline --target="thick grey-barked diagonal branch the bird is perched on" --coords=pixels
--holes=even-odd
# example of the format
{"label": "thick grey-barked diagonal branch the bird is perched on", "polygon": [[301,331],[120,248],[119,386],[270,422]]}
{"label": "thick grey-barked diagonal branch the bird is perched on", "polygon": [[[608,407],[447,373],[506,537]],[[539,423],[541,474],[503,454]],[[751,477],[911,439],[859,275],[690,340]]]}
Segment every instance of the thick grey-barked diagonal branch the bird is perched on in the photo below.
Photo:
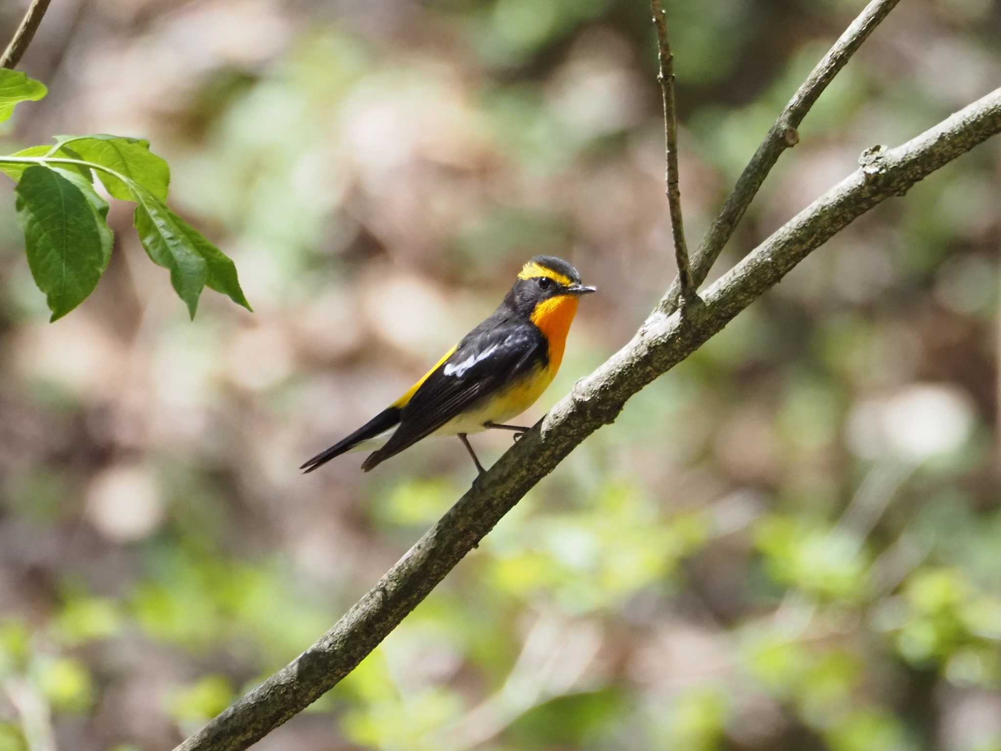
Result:
{"label": "thick grey-barked diagonal branch the bird is perched on", "polygon": [[720,278],[704,302],[651,313],[633,339],[579,382],[319,641],[236,701],[177,751],[237,751],[333,687],[423,600],[540,480],[627,400],[722,329],[797,263],[873,206],[903,195],[1001,132],[1001,89],[862,166],[793,217]]}

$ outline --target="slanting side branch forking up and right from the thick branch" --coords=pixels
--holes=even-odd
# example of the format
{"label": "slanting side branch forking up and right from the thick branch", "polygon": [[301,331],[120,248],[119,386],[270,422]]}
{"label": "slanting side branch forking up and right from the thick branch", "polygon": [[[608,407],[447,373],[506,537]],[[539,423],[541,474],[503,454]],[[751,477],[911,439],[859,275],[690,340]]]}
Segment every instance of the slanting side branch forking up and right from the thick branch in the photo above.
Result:
{"label": "slanting side branch forking up and right from the thick branch", "polygon": [[[744,216],[744,212],[751,205],[751,201],[758,194],[758,190],[779,157],[787,148],[792,148],[799,143],[800,134],[797,128],[803,122],[803,118],[807,116],[807,112],[824,93],[824,89],[834,80],[838,72],[845,67],[845,63],[858,51],[862,43],[869,38],[873,30],[879,26],[898,2],[900,0],[873,0],[869,3],[859,14],[859,17],[845,29],[845,33],[817,63],[817,67],[813,69],[793,98],[789,100],[786,108],[779,115],[779,119],[775,121],[765,136],[765,140],[751,157],[751,161],[744,167],[744,171],[737,179],[737,184],[730,191],[723,208],[713,220],[709,231],[706,232],[706,236],[702,238],[702,242],[699,243],[699,247],[695,251],[692,258],[692,275],[697,286],[706,280],[710,268],[720,256],[727,241],[737,228],[737,224]],[[680,283],[672,284],[671,289],[661,300],[661,309],[665,312],[677,309],[681,292],[682,285]]]}

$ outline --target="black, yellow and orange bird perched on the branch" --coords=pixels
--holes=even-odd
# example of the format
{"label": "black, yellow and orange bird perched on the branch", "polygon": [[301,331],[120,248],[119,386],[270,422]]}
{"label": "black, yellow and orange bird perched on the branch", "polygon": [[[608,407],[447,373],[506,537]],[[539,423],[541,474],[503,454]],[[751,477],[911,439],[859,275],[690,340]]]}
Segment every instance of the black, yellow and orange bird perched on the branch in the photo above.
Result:
{"label": "black, yellow and orange bird perched on the branch", "polygon": [[529,430],[508,421],[553,382],[578,301],[595,291],[567,261],[533,257],[497,308],[402,397],[299,469],[310,473],[346,452],[374,449],[361,464],[369,472],[428,436],[457,436],[482,475],[467,436],[504,430],[518,441]]}

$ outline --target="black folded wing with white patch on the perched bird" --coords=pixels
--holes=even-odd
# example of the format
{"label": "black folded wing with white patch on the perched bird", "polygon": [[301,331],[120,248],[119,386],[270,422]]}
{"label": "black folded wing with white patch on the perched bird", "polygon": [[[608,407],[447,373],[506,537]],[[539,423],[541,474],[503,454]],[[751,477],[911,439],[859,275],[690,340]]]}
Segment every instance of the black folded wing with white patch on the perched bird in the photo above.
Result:
{"label": "black folded wing with white patch on the perched bird", "polygon": [[487,318],[420,385],[399,416],[399,428],[361,465],[365,472],[434,433],[452,418],[533,367],[545,365],[549,347],[525,322]]}

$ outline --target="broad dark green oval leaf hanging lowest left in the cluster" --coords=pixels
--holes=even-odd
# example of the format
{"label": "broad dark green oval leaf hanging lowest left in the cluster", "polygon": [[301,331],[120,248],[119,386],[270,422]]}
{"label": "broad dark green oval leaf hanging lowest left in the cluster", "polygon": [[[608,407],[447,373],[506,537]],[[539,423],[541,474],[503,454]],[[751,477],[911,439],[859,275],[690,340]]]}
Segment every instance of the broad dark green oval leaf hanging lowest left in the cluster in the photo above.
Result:
{"label": "broad dark green oval leaf hanging lowest left in the cluster", "polygon": [[28,265],[56,320],[94,291],[107,267],[108,204],[80,175],[35,165],[15,191]]}

